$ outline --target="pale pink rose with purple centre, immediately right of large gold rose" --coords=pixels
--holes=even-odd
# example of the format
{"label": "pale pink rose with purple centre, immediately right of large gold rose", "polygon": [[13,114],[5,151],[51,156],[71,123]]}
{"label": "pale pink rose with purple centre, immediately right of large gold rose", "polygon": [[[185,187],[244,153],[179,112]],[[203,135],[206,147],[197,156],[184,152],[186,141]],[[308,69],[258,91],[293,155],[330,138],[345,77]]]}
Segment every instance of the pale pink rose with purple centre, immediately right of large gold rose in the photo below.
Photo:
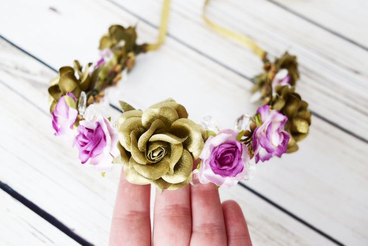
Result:
{"label": "pale pink rose with purple centre, immediately right of large gold rose", "polygon": [[237,131],[226,129],[207,139],[199,156],[200,168],[193,171],[201,183],[229,188],[245,177],[250,158],[247,146],[237,141],[237,136]]}

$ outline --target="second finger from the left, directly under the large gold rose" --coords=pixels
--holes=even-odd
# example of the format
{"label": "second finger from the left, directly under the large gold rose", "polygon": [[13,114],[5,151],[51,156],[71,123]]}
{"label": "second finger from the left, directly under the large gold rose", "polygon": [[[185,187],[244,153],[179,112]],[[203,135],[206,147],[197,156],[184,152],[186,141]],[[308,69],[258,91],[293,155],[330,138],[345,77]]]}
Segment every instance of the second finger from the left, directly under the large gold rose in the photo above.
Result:
{"label": "second finger from the left, directly under the large gold rose", "polygon": [[191,235],[189,185],[178,190],[156,191],[153,245],[188,246]]}

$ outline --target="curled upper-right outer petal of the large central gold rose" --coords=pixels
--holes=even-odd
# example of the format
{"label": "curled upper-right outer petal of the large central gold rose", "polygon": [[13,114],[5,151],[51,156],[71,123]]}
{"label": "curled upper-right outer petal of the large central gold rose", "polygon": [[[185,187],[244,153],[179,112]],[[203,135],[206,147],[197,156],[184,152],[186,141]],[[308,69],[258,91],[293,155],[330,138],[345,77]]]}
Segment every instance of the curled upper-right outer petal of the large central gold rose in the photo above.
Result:
{"label": "curled upper-right outer petal of the large central gold rose", "polygon": [[188,150],[193,160],[197,159],[203,149],[202,127],[189,119],[179,119],[173,123],[170,133],[187,139],[183,142],[184,149]]}

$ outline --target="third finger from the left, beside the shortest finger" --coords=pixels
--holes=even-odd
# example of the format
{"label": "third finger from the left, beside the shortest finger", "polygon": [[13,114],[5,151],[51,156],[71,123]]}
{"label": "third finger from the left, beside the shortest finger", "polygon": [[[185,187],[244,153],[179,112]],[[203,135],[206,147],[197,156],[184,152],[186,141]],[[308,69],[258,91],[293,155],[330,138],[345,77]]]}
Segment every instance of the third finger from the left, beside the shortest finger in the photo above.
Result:
{"label": "third finger from the left, beside the shortest finger", "polygon": [[215,184],[190,187],[192,235],[190,246],[226,246],[226,229]]}

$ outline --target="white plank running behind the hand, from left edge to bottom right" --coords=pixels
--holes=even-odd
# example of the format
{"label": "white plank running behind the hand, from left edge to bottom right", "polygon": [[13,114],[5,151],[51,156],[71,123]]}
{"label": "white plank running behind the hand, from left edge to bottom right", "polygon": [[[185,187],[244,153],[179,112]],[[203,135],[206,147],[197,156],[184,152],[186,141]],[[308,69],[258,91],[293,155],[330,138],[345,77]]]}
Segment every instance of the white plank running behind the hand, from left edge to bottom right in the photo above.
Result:
{"label": "white plank running behind the hand, from left edge to bottom right", "polygon": [[[78,164],[70,144],[52,136],[45,77],[55,74],[4,41],[0,47],[0,57],[6,57],[0,59],[1,103],[13,105],[0,108],[7,119],[0,123],[0,155],[6,160],[0,180],[93,244],[106,245],[120,167],[102,178]],[[240,186],[220,189],[220,194],[241,205],[254,245],[332,245]]]}

